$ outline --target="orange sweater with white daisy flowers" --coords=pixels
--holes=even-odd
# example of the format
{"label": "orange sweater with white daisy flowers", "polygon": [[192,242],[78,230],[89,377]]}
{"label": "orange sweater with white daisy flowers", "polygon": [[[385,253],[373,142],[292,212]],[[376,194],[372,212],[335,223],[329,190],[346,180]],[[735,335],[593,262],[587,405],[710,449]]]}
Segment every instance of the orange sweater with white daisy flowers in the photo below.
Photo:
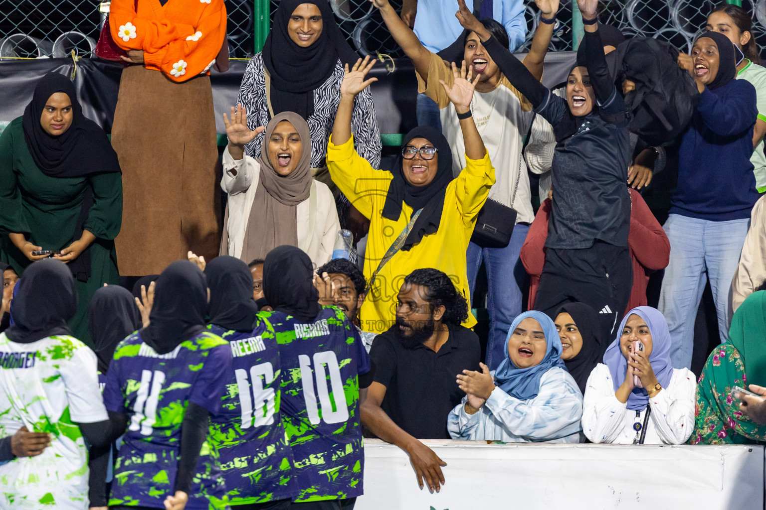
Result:
{"label": "orange sweater with white daisy flowers", "polygon": [[112,0],[109,17],[119,47],[175,82],[208,74],[226,34],[224,0]]}

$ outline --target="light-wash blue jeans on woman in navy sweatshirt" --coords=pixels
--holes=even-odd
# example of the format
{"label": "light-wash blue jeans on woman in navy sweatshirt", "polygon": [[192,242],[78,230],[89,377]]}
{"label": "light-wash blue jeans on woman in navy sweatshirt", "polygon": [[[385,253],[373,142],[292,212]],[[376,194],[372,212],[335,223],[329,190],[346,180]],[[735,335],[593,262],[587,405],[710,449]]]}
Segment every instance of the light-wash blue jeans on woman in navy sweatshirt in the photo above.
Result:
{"label": "light-wash blue jeans on woman in navy sweatshirt", "polygon": [[679,214],[668,216],[663,229],[670,240],[670,263],[660,291],[660,311],[670,330],[674,369],[689,368],[694,346],[694,321],[699,300],[710,279],[721,342],[728,338],[728,307],[732,278],[750,219],[709,221]]}

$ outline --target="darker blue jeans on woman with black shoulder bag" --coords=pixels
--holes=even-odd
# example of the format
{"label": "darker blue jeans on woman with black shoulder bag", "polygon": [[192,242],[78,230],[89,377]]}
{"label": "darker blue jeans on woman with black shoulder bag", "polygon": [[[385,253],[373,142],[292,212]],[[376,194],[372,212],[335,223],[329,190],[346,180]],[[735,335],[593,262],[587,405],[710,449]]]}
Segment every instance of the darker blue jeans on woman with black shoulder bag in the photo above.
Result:
{"label": "darker blue jeans on woman with black shoulder bag", "polygon": [[508,330],[516,316],[522,313],[522,284],[526,271],[519,260],[519,253],[527,232],[528,225],[513,227],[511,242],[505,248],[480,248],[473,242],[468,243],[466,261],[472,297],[482,261],[486,268],[489,337],[486,340],[485,363],[490,370],[496,369],[506,359],[504,351]]}

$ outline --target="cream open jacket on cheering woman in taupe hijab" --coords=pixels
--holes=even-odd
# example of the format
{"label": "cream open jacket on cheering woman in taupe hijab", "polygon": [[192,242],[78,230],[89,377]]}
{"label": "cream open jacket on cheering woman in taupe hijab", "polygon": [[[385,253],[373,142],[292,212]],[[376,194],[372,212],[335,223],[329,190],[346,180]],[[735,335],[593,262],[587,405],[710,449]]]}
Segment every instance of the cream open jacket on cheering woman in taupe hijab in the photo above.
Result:
{"label": "cream open jacket on cheering woman in taupe hijab", "polygon": [[[236,175],[232,171],[236,172]],[[240,258],[244,245],[247,220],[253,206],[255,191],[260,178],[260,164],[247,154],[241,160],[234,160],[229,154],[228,145],[224,150],[224,176],[221,188],[228,193],[229,235],[228,255]],[[332,191],[326,184],[315,180],[316,184],[316,223],[314,231],[309,232],[309,200],[298,204],[298,248],[309,255],[314,267],[326,264],[332,258],[340,223],[338,210]]]}

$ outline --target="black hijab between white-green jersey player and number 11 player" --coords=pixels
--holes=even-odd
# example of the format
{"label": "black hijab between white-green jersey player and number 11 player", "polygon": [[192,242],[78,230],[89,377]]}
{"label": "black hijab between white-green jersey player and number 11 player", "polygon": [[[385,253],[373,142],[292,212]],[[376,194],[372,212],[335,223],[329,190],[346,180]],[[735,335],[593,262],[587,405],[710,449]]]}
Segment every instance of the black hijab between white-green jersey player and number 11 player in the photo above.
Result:
{"label": "black hijab between white-green jersey player and number 11 player", "polygon": [[126,336],[141,327],[141,316],[133,294],[119,285],[107,285],[93,293],[88,305],[90,338],[98,358],[100,382],[106,382],[106,370],[114,349]]}

